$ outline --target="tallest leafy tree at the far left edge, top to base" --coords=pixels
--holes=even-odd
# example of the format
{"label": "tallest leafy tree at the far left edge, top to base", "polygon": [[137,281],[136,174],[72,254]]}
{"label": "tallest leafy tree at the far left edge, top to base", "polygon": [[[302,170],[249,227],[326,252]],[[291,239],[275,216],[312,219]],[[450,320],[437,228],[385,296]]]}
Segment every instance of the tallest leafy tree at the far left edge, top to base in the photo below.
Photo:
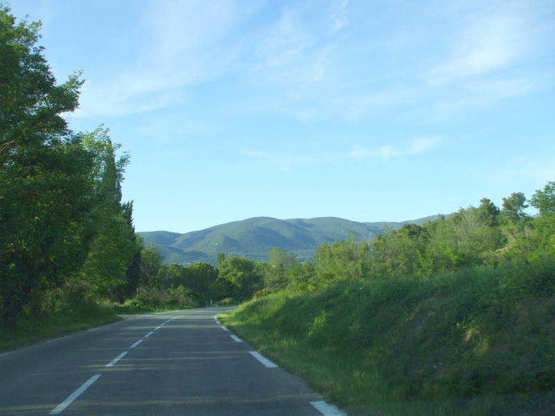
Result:
{"label": "tallest leafy tree at the far left edge, top to base", "polygon": [[39,28],[16,24],[0,6],[0,316],[7,324],[76,272],[87,248],[91,155],[60,116],[77,107],[82,82],[74,75],[56,85],[36,45]]}

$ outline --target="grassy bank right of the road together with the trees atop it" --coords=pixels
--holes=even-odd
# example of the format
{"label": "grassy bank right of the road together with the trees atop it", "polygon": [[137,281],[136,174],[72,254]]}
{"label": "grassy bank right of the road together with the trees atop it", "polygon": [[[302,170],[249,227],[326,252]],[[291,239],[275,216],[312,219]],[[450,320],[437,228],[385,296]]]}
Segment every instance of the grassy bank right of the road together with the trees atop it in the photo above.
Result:
{"label": "grassy bank right of the road together with the trees atop it", "polygon": [[350,414],[555,413],[555,182],[271,269],[221,320]]}

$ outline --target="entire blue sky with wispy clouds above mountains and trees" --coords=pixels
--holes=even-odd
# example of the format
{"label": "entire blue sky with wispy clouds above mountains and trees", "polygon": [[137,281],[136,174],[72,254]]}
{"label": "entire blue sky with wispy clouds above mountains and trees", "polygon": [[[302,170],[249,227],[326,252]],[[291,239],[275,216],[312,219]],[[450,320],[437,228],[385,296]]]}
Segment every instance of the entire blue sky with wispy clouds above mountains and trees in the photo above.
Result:
{"label": "entire blue sky with wispy clouds above mountains and trees", "polygon": [[12,0],[137,231],[401,221],[555,180],[553,1]]}

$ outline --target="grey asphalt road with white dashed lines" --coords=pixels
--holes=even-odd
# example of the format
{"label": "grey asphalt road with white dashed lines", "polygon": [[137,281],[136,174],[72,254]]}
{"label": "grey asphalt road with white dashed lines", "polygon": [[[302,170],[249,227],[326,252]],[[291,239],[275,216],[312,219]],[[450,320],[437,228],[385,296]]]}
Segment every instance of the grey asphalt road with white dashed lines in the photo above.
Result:
{"label": "grey asphalt road with white dashed lines", "polygon": [[[0,415],[338,415],[214,320],[140,315],[0,355]],[[317,410],[321,408],[321,410]]]}

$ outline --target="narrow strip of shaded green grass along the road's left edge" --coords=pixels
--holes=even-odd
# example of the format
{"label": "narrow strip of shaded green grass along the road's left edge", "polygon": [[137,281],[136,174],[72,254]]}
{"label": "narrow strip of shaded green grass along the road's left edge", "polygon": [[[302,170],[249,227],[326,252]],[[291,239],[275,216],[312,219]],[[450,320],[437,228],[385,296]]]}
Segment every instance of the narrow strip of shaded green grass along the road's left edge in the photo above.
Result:
{"label": "narrow strip of shaded green grass along the road's left edge", "polygon": [[22,316],[15,327],[0,329],[0,352],[119,320],[112,306],[94,302],[84,302],[68,311],[46,313],[40,318]]}

